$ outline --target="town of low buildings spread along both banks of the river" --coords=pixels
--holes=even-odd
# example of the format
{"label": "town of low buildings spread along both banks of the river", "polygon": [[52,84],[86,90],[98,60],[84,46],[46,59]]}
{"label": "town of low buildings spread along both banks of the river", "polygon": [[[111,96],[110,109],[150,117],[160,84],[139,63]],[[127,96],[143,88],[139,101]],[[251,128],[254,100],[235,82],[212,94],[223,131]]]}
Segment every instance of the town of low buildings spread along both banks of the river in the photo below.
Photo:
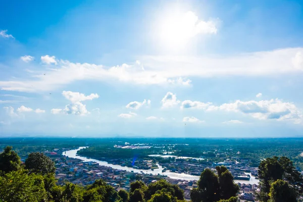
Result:
{"label": "town of low buildings spread along both banks of the river", "polygon": [[[69,158],[63,156],[64,148],[57,149],[53,151],[45,151],[44,154],[50,157],[56,163],[56,178],[58,179],[58,184],[64,184],[65,181],[70,181],[74,184],[88,185],[92,184],[96,179],[103,179],[109,185],[115,187],[117,191],[120,189],[129,190],[130,183],[136,180],[142,180],[145,184],[155,182],[160,179],[166,179],[172,184],[177,184],[181,189],[184,190],[185,199],[190,199],[190,190],[197,187],[196,180],[184,180],[184,179],[173,179],[165,175],[165,171],[176,172],[176,173],[188,173],[190,175],[199,176],[200,173],[206,169],[212,169],[216,171],[215,167],[218,165],[224,165],[228,167],[230,172],[235,176],[235,179],[247,180],[246,183],[238,182],[240,191],[238,197],[240,199],[254,201],[255,192],[258,189],[258,184],[251,183],[249,181],[250,177],[257,176],[257,168],[251,168],[246,166],[249,164],[248,160],[242,160],[239,158],[229,160],[224,162],[213,163],[210,165],[200,164],[198,160],[194,158],[190,159],[175,159],[175,158],[164,158],[165,163],[159,163],[163,167],[163,174],[147,174],[144,172],[134,173],[127,172],[125,170],[113,169],[107,166],[100,166],[98,163],[93,161],[82,161],[80,159]],[[127,164],[127,160],[112,160],[110,163],[121,163]],[[132,162],[130,162],[132,163]],[[151,160],[136,160],[135,164],[141,165],[146,164],[146,167],[151,169],[151,165],[155,164],[155,159]],[[144,166],[133,166],[133,168],[145,168]],[[157,167],[158,169],[158,167]],[[250,173],[250,175],[245,175],[245,173]],[[256,179],[256,177],[255,177]]]}

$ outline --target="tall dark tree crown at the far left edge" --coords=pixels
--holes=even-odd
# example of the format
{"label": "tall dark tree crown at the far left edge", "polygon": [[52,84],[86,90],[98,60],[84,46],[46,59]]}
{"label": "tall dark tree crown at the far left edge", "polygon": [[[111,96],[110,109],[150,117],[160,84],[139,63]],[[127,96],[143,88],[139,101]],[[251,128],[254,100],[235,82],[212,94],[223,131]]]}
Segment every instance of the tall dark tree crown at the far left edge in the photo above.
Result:
{"label": "tall dark tree crown at the far left edge", "polygon": [[7,146],[0,154],[0,171],[8,173],[20,169],[20,157],[15,153],[12,146]]}

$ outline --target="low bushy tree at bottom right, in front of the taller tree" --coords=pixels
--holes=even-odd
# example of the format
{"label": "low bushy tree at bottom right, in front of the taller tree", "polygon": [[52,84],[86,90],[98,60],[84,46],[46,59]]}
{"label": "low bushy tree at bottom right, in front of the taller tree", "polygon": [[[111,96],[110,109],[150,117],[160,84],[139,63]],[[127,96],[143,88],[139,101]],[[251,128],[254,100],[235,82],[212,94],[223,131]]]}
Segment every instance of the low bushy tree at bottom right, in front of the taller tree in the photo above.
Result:
{"label": "low bushy tree at bottom right, in front of the taller tree", "polygon": [[271,184],[270,202],[296,202],[296,193],[284,180],[277,180]]}

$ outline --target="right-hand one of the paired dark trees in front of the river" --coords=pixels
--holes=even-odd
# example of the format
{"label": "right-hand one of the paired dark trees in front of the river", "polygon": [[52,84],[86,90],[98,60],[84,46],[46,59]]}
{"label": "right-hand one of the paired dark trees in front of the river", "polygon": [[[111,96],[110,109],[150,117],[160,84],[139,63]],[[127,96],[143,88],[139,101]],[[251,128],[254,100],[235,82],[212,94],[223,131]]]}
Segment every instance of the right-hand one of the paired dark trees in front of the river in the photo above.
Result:
{"label": "right-hand one of the paired dark trees in front of the river", "polygon": [[229,199],[239,191],[239,186],[233,182],[233,176],[225,166],[217,166],[219,176],[220,198]]}

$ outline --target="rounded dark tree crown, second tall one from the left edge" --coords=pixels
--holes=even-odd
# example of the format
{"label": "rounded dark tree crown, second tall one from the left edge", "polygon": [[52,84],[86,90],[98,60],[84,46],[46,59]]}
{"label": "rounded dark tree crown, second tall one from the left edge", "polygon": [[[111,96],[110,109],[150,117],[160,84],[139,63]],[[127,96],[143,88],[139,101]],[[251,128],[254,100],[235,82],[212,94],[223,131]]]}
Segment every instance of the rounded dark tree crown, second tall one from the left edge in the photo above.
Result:
{"label": "rounded dark tree crown, second tall one from the left edge", "polygon": [[25,168],[33,173],[40,173],[46,175],[54,173],[56,170],[55,163],[46,157],[43,153],[30,153],[25,160]]}

